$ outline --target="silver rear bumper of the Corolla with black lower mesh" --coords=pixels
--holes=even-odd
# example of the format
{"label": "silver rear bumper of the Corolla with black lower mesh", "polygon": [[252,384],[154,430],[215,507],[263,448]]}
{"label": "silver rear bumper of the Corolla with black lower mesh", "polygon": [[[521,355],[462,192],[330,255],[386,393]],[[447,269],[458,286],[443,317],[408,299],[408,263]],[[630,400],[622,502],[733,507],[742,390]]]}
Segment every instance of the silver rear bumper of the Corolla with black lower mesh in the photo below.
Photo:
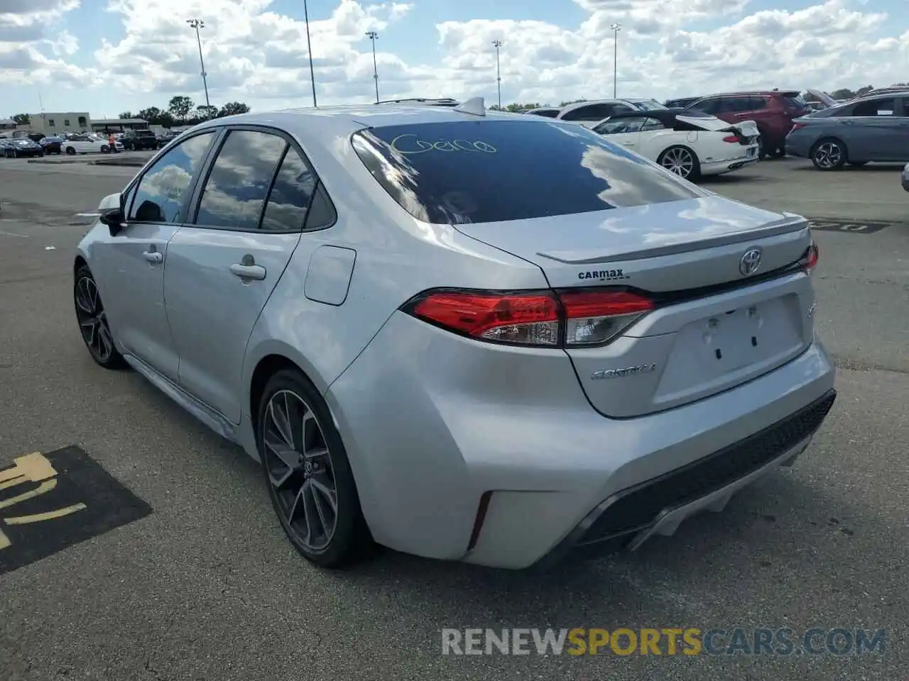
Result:
{"label": "silver rear bumper of the Corolla with black lower mesh", "polygon": [[712,454],[728,459],[721,479],[661,497],[625,529],[636,536],[664,511],[684,517],[678,508],[729,486],[731,494],[755,467],[797,454],[823,416],[774,444],[770,458],[724,452],[744,451],[765,429],[782,432],[785,419],[833,389],[834,366],[815,341],[732,390],[609,419],[591,408],[564,353],[499,348],[395,313],[325,398],[376,541],[427,558],[528,568],[553,551],[559,558],[565,547],[601,543],[589,534],[597,509],[611,518],[604,514],[617,499]]}

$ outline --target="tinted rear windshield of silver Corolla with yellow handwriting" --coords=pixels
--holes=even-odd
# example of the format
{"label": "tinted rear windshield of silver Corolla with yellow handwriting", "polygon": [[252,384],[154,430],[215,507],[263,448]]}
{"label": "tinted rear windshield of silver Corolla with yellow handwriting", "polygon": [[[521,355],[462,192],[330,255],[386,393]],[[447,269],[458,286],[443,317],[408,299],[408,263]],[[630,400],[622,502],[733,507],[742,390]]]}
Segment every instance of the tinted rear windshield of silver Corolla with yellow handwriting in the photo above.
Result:
{"label": "tinted rear windshield of silver Corolla with yellow handwriting", "polygon": [[366,168],[423,222],[504,222],[701,194],[580,125],[458,121],[355,133]]}

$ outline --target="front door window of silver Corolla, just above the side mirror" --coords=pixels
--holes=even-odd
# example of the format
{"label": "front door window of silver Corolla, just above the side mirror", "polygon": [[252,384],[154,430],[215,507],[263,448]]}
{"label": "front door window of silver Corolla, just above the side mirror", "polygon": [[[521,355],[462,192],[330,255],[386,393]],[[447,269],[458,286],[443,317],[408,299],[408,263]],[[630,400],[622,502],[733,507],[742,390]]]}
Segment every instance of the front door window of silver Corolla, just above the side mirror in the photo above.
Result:
{"label": "front door window of silver Corolla, just above the side mirror", "polygon": [[148,169],[139,181],[128,219],[136,222],[181,222],[186,190],[199,172],[215,131],[177,144]]}

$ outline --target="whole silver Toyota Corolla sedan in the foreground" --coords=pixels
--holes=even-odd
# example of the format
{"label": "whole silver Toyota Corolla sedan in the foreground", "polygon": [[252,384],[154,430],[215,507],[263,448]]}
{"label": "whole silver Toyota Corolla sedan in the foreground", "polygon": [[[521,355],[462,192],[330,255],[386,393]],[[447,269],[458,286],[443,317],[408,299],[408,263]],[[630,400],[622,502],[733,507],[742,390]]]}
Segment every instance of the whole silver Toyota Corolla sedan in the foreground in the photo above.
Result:
{"label": "whole silver Toyota Corolla sedan in the foreground", "polygon": [[636,548],[791,464],[834,403],[804,218],[579,125],[475,100],[232,116],[99,212],[91,356],[260,460],[320,566]]}

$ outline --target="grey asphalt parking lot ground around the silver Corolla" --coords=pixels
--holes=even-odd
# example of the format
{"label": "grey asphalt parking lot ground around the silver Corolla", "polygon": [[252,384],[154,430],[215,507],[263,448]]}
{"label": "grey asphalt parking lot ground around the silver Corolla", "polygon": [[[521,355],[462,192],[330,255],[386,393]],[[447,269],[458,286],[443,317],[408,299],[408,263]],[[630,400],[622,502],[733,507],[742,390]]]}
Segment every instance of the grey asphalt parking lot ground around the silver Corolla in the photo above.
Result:
{"label": "grey asphalt parking lot ground around the silver Corolla", "polygon": [[[722,514],[544,576],[392,552],[320,572],[285,541],[244,453],[135,373],[96,367],[75,328],[76,213],[135,172],[0,159],[0,469],[44,453],[71,479],[61,505],[106,509],[79,528],[93,538],[0,569],[3,681],[909,678],[909,194],[897,168],[816,173],[784,159],[705,183],[817,222],[817,326],[839,398],[793,469]],[[0,527],[28,541],[28,526]],[[15,548],[0,541],[0,566]],[[886,647],[443,656],[449,627],[863,627],[885,629]]]}

